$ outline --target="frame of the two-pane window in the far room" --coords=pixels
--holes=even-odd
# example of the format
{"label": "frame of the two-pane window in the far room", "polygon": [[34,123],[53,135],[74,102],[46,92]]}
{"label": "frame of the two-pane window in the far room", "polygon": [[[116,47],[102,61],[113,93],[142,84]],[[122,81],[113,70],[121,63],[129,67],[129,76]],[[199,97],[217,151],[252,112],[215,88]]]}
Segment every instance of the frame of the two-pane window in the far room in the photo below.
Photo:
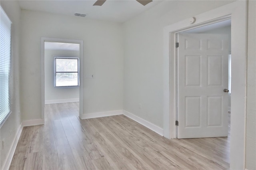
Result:
{"label": "frame of the two-pane window in the far room", "polygon": [[[56,59],[77,59],[77,71],[56,71]],[[54,87],[57,88],[68,88],[68,87],[79,87],[80,86],[80,63],[79,63],[79,58],[78,57],[60,57],[56,56],[54,57]],[[77,73],[77,85],[70,85],[70,86],[56,86],[56,75],[57,73]]]}

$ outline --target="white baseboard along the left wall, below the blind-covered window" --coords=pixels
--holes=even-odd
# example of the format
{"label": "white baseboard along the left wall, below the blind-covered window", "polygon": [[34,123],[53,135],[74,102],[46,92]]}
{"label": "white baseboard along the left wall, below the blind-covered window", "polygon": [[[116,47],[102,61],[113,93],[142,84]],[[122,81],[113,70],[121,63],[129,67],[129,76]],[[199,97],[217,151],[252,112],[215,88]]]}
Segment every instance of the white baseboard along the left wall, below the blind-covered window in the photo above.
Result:
{"label": "white baseboard along the left wall, below the blind-covered window", "polygon": [[4,164],[2,166],[2,170],[8,170],[10,168],[10,165],[11,165],[11,162],[12,162],[12,158],[14,156],[14,152],[16,150],[16,147],[17,147],[17,144],[18,144],[18,141],[20,139],[20,134],[22,132],[22,123],[20,124],[20,127],[18,128],[16,134],[15,134],[15,138],[12,142],[12,145],[10,147],[10,150],[5,158],[5,161],[4,161]]}

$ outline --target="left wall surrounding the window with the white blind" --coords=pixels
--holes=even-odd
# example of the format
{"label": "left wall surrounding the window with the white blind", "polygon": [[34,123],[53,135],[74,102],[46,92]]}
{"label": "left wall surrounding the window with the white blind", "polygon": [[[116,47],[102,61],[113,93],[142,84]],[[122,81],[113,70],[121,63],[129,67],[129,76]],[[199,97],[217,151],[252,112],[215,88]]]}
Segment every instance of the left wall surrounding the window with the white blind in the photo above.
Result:
{"label": "left wall surrounding the window with the white blind", "polygon": [[[11,115],[0,129],[0,160],[1,169],[6,161],[6,156],[10,151],[16,132],[20,127],[20,95],[19,95],[19,61],[20,61],[20,6],[17,1],[1,0],[1,6],[12,21],[12,59],[11,59]],[[4,140],[4,148],[2,148]]]}

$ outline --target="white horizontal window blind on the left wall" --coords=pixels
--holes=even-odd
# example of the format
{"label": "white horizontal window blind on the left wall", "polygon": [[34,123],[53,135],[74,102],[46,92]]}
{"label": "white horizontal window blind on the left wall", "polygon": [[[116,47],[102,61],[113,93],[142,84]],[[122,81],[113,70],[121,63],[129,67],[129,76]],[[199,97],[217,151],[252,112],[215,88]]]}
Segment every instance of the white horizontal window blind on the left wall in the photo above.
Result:
{"label": "white horizontal window blind on the left wall", "polygon": [[10,63],[12,22],[0,11],[0,127],[10,114]]}

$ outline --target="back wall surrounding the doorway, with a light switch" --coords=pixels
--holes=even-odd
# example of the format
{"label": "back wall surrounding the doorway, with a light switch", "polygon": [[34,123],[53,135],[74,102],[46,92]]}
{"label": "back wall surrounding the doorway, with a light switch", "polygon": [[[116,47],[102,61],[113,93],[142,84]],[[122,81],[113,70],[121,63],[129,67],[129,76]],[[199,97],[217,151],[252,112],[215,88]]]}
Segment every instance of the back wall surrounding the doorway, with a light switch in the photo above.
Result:
{"label": "back wall surrounding the doorway, with a light switch", "polygon": [[120,24],[44,12],[21,12],[22,119],[41,119],[40,38],[84,41],[84,113],[123,108],[123,43]]}

